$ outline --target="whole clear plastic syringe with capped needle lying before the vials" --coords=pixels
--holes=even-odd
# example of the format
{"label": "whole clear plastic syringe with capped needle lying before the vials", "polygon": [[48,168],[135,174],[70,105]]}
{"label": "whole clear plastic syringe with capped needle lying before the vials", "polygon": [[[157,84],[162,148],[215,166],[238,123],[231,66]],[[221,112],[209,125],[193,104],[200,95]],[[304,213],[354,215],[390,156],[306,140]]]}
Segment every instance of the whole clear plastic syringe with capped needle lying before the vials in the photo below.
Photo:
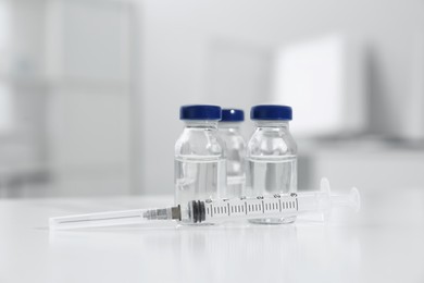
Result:
{"label": "whole clear plastic syringe with capped needle lying before the vials", "polygon": [[187,224],[220,223],[244,219],[264,219],[322,213],[333,207],[360,208],[360,195],[353,187],[347,195],[332,195],[328,180],[321,181],[321,190],[276,194],[232,199],[192,200],[187,206],[159,209],[135,209],[50,218],[50,230],[141,224],[151,221],[177,221]]}

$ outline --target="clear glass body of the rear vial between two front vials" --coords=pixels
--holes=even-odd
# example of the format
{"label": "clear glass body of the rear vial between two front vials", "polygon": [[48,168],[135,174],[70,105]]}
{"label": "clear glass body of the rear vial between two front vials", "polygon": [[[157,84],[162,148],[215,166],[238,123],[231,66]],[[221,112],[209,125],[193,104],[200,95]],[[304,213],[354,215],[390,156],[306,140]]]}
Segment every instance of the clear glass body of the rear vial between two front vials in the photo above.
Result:
{"label": "clear glass body of the rear vial between two front vials", "polygon": [[246,143],[240,133],[240,122],[220,122],[220,137],[225,143],[227,160],[226,197],[246,195]]}

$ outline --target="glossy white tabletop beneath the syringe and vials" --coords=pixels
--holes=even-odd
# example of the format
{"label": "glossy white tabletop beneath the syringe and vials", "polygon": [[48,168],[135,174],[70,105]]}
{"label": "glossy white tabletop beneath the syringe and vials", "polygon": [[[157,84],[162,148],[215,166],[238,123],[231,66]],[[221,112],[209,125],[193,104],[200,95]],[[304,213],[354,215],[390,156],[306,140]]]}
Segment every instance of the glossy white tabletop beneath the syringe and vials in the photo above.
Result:
{"label": "glossy white tabletop beneath the syringe and vials", "polygon": [[[0,200],[0,282],[424,282],[424,189],[362,193],[349,222],[49,233],[52,216],[171,197]],[[399,210],[402,209],[402,210]]]}

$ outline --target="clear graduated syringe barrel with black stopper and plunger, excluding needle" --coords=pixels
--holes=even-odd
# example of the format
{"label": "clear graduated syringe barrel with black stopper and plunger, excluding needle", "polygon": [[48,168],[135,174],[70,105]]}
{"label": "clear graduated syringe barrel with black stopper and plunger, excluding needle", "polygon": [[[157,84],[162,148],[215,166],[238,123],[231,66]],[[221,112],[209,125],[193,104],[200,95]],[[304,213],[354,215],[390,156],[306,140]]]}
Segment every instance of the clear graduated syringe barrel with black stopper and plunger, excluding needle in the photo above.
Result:
{"label": "clear graduated syringe barrel with black stopper and plunger, excluding needle", "polygon": [[[325,183],[325,182],[324,182]],[[331,195],[329,187],[320,192],[302,192],[257,198],[233,198],[190,201],[183,221],[186,223],[220,223],[240,219],[296,217],[303,213],[322,213],[334,207],[350,207],[358,210],[359,193],[353,188],[349,195]]]}

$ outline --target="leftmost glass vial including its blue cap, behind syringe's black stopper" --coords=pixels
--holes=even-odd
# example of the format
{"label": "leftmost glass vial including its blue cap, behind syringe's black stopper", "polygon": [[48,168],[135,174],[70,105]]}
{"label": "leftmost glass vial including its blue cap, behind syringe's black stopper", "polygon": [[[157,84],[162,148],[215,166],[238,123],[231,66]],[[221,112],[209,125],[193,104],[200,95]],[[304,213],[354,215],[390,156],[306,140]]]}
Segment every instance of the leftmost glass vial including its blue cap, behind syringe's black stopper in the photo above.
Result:
{"label": "leftmost glass vial including its blue cap, behind syringe's black stopper", "polygon": [[217,131],[221,118],[219,106],[192,104],[179,109],[185,127],[175,144],[175,205],[225,197],[225,144]]}

